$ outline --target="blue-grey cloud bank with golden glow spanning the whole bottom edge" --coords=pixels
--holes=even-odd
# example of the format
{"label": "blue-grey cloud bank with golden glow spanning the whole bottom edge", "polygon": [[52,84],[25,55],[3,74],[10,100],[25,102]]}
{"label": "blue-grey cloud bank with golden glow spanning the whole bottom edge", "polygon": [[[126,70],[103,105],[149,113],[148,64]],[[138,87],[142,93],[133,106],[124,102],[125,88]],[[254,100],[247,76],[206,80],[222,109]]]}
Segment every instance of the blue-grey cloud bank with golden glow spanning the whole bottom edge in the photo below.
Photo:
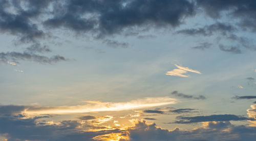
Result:
{"label": "blue-grey cloud bank with golden glow spanning the whole bottom edge", "polygon": [[[254,112],[255,107],[248,109]],[[42,118],[49,119],[51,116],[27,117],[26,114],[18,114],[24,110],[24,106],[0,106],[0,134],[8,140],[253,140],[256,132],[255,127],[235,126],[229,120],[243,120],[239,116],[225,115],[202,117],[194,119],[194,122],[221,119],[223,121],[202,122],[202,127],[192,130],[166,130],[157,127],[155,123],[148,124],[144,120],[131,120],[133,126],[106,127],[100,124],[113,121],[112,116],[83,115],[81,121],[65,120],[59,123],[48,123]],[[4,114],[5,113],[5,114]],[[254,112],[255,113],[255,112]],[[17,114],[17,115],[16,115]],[[26,118],[24,118],[26,117]],[[94,119],[95,117],[95,119]],[[85,119],[83,119],[85,118]],[[205,118],[203,118],[205,119]],[[248,118],[247,118],[248,119]],[[88,121],[89,120],[89,121]],[[154,120],[148,118],[147,120]],[[196,121],[195,121],[196,120]]]}

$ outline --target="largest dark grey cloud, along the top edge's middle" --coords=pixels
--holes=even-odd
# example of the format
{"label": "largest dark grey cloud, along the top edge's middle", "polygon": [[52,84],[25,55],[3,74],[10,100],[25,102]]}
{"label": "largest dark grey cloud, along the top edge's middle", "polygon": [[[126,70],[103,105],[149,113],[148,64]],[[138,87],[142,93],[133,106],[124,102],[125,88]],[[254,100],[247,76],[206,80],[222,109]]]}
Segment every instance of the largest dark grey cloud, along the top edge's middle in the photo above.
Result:
{"label": "largest dark grey cloud, along the top edge's middle", "polygon": [[[53,18],[45,21],[47,27],[65,27],[77,33],[96,32],[99,36],[119,34],[135,26],[176,27],[182,18],[194,15],[194,4],[185,0],[67,1],[66,5],[59,2],[55,5]],[[93,16],[82,18],[84,14]]]}

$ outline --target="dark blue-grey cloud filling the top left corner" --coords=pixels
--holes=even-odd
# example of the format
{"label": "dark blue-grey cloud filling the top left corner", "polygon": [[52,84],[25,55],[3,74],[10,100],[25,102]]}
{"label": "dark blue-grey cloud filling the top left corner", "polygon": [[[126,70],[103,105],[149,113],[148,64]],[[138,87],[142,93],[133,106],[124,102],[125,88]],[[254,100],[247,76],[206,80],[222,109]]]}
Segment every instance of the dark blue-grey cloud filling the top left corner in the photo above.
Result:
{"label": "dark blue-grey cloud filling the top left corner", "polygon": [[[22,42],[45,37],[45,33],[31,19],[38,18],[49,3],[50,1],[0,1],[0,32],[16,35]],[[10,9],[17,12],[11,13]]]}

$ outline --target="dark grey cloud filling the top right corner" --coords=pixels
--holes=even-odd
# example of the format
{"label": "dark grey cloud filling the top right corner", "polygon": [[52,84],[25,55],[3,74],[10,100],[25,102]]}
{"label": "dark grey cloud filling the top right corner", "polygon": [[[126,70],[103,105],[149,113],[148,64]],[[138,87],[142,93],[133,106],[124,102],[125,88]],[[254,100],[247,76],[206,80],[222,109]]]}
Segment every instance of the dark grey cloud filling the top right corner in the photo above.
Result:
{"label": "dark grey cloud filling the top right corner", "polygon": [[[224,15],[233,19],[238,19],[238,25],[243,29],[256,30],[256,4],[253,0],[247,1],[203,1],[198,0],[197,6],[203,8],[207,15],[212,18],[221,18]],[[225,14],[223,14],[225,12]]]}

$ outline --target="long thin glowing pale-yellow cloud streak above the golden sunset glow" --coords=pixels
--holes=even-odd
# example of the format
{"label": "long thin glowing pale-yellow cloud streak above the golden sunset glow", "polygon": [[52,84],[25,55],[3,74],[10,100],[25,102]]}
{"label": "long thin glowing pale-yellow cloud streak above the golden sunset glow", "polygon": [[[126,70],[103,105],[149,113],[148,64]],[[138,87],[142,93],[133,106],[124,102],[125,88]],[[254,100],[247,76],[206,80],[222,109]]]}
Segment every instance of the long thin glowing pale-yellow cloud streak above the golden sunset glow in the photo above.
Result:
{"label": "long thin glowing pale-yellow cloud streak above the golden sunset glow", "polygon": [[139,109],[145,107],[155,107],[168,104],[174,104],[177,100],[169,97],[158,98],[144,98],[132,100],[129,102],[99,102],[99,101],[86,101],[85,105],[76,106],[59,106],[59,107],[39,107],[27,106],[25,113],[84,113],[84,112],[97,112],[97,111],[121,111]]}

